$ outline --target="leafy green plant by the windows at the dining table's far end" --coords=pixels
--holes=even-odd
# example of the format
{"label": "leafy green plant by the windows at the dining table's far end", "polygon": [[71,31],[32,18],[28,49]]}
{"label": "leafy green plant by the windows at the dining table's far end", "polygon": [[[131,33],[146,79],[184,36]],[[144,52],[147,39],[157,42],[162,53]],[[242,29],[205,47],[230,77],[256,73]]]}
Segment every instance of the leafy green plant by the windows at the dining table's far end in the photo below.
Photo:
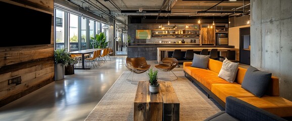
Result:
{"label": "leafy green plant by the windows at the dining table's far end", "polygon": [[106,40],[106,35],[104,32],[101,32],[100,34],[96,34],[95,38],[91,37],[90,39],[94,42],[94,48],[107,48],[108,43]]}

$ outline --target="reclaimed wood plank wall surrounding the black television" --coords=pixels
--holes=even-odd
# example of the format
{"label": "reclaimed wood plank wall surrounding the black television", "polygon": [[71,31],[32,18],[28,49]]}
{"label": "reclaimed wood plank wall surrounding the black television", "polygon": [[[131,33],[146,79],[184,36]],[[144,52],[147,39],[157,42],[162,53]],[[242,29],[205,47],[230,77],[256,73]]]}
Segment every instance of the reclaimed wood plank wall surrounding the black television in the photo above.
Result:
{"label": "reclaimed wood plank wall surrounding the black television", "polygon": [[[52,15],[51,44],[0,47],[0,107],[54,82],[54,1],[8,1]],[[9,11],[8,11],[9,12]],[[19,39],[19,38],[15,38]],[[29,41],[29,38],[21,38]],[[13,38],[12,40],[13,41]],[[41,38],[40,38],[41,41]],[[9,84],[12,79],[21,83]]]}

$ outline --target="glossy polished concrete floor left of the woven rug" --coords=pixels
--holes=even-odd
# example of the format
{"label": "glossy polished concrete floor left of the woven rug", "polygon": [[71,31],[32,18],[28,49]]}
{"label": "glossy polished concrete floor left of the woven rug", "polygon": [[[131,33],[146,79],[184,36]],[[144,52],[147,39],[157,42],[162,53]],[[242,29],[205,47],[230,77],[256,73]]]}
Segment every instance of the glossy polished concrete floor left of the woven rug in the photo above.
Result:
{"label": "glossy polished concrete floor left of the woven rug", "polygon": [[[84,120],[119,76],[128,71],[126,55],[50,83],[0,108],[0,120]],[[157,61],[148,61],[151,65]],[[240,65],[247,68],[248,65]],[[182,70],[182,66],[180,68]]]}

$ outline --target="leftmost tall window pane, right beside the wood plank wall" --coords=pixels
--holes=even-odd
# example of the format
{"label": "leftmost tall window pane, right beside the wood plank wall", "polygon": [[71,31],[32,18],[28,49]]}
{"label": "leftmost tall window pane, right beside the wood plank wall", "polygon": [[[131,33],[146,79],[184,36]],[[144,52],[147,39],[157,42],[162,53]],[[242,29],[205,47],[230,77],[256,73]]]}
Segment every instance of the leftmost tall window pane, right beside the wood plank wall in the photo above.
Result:
{"label": "leftmost tall window pane, right beside the wood plank wall", "polygon": [[64,48],[64,12],[56,10],[56,49]]}

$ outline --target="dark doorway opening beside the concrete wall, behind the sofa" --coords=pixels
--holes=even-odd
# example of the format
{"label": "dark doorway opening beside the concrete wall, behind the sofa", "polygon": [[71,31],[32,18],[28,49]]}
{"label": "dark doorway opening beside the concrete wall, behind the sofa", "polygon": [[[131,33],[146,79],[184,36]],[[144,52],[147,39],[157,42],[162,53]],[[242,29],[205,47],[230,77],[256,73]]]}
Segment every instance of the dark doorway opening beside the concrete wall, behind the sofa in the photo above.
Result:
{"label": "dark doorway opening beside the concrete wall, behind the sofa", "polygon": [[239,62],[251,65],[251,28],[240,28],[239,37]]}

